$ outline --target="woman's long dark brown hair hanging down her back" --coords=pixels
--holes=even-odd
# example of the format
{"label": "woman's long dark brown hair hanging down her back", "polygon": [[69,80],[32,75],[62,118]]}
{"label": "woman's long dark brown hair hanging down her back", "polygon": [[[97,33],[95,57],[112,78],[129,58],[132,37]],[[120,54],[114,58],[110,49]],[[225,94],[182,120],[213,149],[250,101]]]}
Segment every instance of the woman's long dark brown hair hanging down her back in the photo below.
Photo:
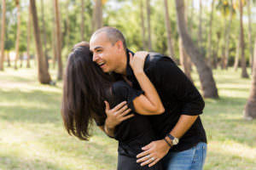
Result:
{"label": "woman's long dark brown hair hanging down her back", "polygon": [[61,116],[67,133],[88,140],[93,118],[106,118],[104,100],[113,79],[92,61],[88,42],[79,42],[67,59]]}

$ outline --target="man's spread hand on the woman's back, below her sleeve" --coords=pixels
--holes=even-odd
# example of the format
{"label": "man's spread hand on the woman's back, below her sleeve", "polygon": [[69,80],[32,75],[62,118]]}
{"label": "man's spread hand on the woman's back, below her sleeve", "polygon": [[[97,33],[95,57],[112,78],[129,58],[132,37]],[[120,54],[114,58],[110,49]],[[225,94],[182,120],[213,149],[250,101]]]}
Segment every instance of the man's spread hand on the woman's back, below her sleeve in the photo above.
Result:
{"label": "man's spread hand on the woman's back, below her sleeve", "polygon": [[116,105],[113,109],[110,109],[108,101],[104,101],[104,103],[106,105],[105,112],[107,115],[105,124],[109,129],[113,129],[119,125],[119,123],[134,116],[134,114],[127,115],[131,109],[126,105],[126,101]]}

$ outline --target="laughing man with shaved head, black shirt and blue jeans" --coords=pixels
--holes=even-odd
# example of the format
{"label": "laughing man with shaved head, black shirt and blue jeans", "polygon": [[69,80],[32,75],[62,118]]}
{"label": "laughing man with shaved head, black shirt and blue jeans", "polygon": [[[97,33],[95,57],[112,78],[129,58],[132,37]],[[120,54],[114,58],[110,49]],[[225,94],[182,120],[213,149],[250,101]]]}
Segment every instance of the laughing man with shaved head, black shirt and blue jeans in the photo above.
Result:
{"label": "laughing man with shaved head, black shirt and blue jeans", "polygon": [[[112,27],[97,30],[90,38],[90,50],[102,71],[113,72],[133,88],[140,89],[129,65],[130,51],[119,30]],[[149,53],[144,71],[157,89],[166,111],[162,115],[149,117],[158,140],[142,148],[137,162],[141,166],[152,167],[163,159],[167,170],[202,169],[207,137],[199,116],[205,105],[201,94],[172,59],[166,56]],[[107,119],[102,130],[113,136],[114,127],[131,117],[127,115],[129,111],[125,102],[113,109],[109,109],[107,102]]]}

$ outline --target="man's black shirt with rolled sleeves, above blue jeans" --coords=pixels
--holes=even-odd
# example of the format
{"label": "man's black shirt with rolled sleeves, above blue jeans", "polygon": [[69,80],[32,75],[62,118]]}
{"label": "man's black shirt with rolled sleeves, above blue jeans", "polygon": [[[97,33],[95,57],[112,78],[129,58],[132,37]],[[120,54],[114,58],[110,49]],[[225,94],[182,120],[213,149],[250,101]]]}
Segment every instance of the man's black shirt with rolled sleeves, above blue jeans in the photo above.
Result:
{"label": "man's black shirt with rolled sleeves, above blue jeans", "polygon": [[[128,52],[130,51],[127,50],[126,77],[132,82],[132,88],[141,90],[129,65]],[[181,115],[202,114],[205,103],[201,94],[171,58],[162,54],[149,53],[145,60],[144,71],[153,82],[166,110],[162,115],[148,116],[157,139],[164,139],[166,134],[172,131]],[[115,77],[117,80],[121,79],[119,74],[115,74]],[[207,142],[200,116],[171,150],[188,150],[199,142]]]}

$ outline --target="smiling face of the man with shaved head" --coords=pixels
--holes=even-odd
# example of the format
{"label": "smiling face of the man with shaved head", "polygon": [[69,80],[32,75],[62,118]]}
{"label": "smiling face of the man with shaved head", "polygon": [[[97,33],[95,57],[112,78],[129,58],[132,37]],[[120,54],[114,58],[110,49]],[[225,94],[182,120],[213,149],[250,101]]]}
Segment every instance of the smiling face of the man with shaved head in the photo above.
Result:
{"label": "smiling face of the man with shaved head", "polygon": [[117,43],[112,45],[105,32],[98,33],[90,38],[90,51],[93,61],[104,72],[116,71],[119,66],[119,48]]}

